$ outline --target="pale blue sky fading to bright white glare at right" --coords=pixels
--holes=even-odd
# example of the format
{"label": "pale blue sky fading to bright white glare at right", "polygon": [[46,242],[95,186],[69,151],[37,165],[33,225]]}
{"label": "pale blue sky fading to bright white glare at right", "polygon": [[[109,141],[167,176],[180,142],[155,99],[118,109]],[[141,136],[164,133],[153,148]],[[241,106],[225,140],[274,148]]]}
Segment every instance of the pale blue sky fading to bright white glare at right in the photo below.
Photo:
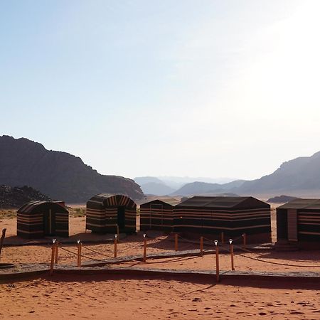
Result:
{"label": "pale blue sky fading to bright white glare at right", "polygon": [[320,150],[319,11],[317,0],[0,0],[0,135],[101,174],[271,174]]}

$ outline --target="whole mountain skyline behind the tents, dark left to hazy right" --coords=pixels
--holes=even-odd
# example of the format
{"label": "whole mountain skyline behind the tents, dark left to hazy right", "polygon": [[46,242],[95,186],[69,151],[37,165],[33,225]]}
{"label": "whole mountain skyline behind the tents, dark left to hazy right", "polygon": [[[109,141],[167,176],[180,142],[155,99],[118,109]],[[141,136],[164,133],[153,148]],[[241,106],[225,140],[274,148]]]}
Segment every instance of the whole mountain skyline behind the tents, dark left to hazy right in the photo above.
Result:
{"label": "whole mountain skyline behind the tents, dark left to hazy right", "polygon": [[158,196],[235,193],[239,196],[319,197],[320,151],[313,156],[286,161],[274,173],[252,181],[212,183],[208,181],[215,181],[214,178],[151,176],[134,180],[136,182],[122,176],[104,176],[76,156],[48,151],[42,144],[25,138],[0,137],[0,184],[31,186],[50,198],[69,203],[85,202],[97,193],[120,193],[133,199],[142,199],[144,193]]}

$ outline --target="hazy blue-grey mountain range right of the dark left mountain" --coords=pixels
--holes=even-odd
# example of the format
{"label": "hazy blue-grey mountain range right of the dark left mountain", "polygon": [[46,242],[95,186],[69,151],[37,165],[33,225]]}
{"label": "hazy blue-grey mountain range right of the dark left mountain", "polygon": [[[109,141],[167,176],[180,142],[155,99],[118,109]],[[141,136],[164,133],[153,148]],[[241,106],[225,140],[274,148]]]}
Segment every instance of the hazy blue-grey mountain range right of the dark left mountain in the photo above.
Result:
{"label": "hazy blue-grey mountain range right of the dark left mountain", "polygon": [[[147,178],[149,179],[149,183],[152,181],[154,183],[162,183],[164,186],[169,187],[164,180],[161,180],[161,177]],[[140,177],[139,179],[143,181],[143,178]],[[145,193],[153,193],[151,191],[155,191],[155,189],[149,189],[147,183],[146,185],[142,183],[141,186]],[[262,178],[252,181],[235,180],[228,183],[193,181],[185,183],[180,188],[176,188],[176,191],[172,193],[169,193],[169,188],[166,189],[163,187],[163,190],[170,196],[236,193],[241,196],[275,196],[287,194],[288,196],[298,197],[320,197],[320,151],[313,156],[304,156],[286,161],[272,174],[262,176]]]}

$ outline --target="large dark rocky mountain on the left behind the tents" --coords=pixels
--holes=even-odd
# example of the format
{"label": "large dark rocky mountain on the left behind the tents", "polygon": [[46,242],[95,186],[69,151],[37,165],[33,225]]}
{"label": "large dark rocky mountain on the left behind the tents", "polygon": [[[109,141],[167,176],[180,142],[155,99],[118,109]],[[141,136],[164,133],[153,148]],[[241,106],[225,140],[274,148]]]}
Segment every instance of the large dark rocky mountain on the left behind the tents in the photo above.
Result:
{"label": "large dark rocky mountain on the left behind the tents", "polygon": [[0,184],[32,186],[69,203],[85,202],[97,193],[120,193],[133,199],[144,196],[129,178],[99,174],[77,156],[9,136],[0,137]]}

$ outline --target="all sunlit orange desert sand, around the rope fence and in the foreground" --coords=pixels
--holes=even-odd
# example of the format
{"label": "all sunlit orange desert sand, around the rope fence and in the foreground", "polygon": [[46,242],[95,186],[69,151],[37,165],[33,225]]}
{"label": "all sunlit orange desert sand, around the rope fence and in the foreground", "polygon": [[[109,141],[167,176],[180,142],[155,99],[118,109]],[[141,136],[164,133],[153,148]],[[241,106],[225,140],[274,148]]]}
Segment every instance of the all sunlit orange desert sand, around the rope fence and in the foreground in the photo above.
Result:
{"label": "all sunlit orange desert sand, around the rope fence and in the foreground", "polygon": [[[85,233],[85,218],[70,218],[71,239],[91,239]],[[274,238],[274,215],[272,230]],[[0,229],[7,228],[8,238],[16,238],[16,219],[2,219]],[[148,253],[174,251],[174,238],[150,233]],[[154,237],[154,238],[153,238]],[[103,239],[103,236],[102,238]],[[48,239],[50,240],[50,239]],[[179,250],[198,249],[198,244],[179,242]],[[63,246],[76,252],[75,245]],[[112,256],[113,244],[85,245],[82,254],[92,259]],[[210,245],[206,248],[213,248]],[[130,235],[118,244],[118,256],[143,253],[142,234]],[[236,270],[318,271],[320,252],[235,252]],[[250,259],[250,258],[252,259]],[[257,261],[266,260],[291,267]],[[1,262],[47,263],[50,246],[4,247]],[[82,261],[92,261],[83,258]],[[75,264],[75,255],[59,250],[60,264]],[[215,256],[180,257],[142,262],[127,262],[120,267],[157,267],[191,270],[214,270]],[[220,255],[220,269],[230,270],[230,255]],[[0,284],[0,318],[2,319],[320,319],[320,284],[295,281],[252,281],[223,279],[216,284],[193,277],[126,278],[116,275],[54,275]]]}

